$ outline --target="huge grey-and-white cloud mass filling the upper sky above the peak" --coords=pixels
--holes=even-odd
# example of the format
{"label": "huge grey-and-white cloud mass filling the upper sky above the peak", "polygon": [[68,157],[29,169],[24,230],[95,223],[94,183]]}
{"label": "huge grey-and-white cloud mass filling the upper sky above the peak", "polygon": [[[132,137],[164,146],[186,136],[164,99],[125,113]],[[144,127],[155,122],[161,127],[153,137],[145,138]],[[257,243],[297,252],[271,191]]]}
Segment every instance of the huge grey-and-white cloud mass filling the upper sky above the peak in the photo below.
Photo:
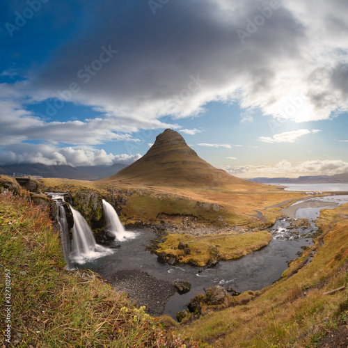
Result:
{"label": "huge grey-and-white cloud mass filling the upper sky above the peak", "polygon": [[[177,0],[155,16],[147,1],[127,3],[86,10],[90,30],[33,72],[33,100],[59,97],[58,90],[77,84],[71,102],[118,119],[182,118],[212,101],[238,102],[244,121],[255,109],[296,122],[347,110],[345,1],[283,1],[262,25],[253,23],[244,42],[238,31],[260,19],[269,1]],[[111,54],[100,56],[106,50]]]}

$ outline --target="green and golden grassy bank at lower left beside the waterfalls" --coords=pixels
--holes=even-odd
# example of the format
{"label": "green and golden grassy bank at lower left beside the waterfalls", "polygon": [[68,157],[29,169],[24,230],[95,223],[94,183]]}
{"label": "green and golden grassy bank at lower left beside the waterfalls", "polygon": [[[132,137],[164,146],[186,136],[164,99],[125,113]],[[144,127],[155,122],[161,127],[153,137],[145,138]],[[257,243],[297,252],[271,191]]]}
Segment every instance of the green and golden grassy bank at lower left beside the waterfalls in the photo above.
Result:
{"label": "green and golden grassy bank at lower left beside the waterfalls", "polygon": [[93,272],[66,271],[58,233],[39,207],[0,195],[0,244],[1,342],[10,301],[10,340],[17,347],[184,347]]}

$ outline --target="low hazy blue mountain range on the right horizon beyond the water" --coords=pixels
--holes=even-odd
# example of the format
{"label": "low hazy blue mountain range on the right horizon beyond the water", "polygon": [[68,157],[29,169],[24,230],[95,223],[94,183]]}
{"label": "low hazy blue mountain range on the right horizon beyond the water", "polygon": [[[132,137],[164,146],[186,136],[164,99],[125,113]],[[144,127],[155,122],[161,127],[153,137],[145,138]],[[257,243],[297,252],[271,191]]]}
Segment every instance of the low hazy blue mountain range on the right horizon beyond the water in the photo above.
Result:
{"label": "low hazy blue mountain range on the right horizon beyond the water", "polygon": [[319,183],[338,183],[348,182],[348,173],[342,173],[335,176],[329,175],[313,175],[313,176],[299,176],[296,179],[289,177],[255,177],[249,179],[252,182],[258,182],[260,184],[319,184]]}

